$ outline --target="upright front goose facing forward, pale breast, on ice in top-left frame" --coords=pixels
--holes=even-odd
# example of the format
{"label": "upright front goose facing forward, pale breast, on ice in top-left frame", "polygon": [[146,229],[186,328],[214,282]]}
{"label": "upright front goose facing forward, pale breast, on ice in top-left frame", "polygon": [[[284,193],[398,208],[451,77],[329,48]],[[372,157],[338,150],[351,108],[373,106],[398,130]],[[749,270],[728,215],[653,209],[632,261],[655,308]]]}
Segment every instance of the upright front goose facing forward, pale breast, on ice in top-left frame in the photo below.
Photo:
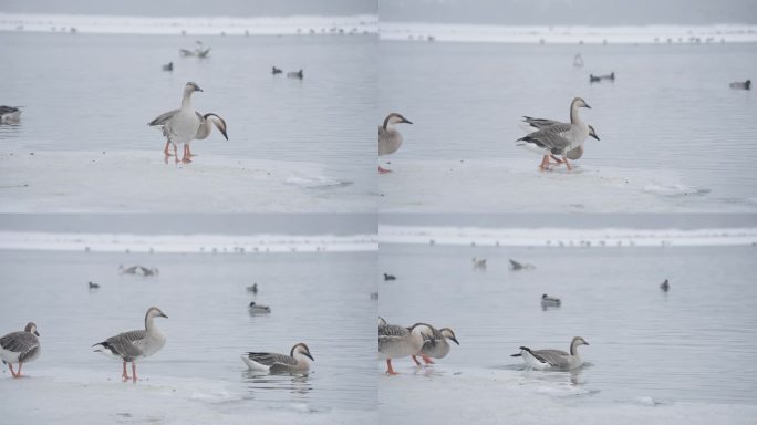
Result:
{"label": "upright front goose facing forward, pale breast, on ice in top-left frame", "polygon": [[[184,157],[182,158],[182,163],[187,164],[191,162],[189,159],[189,143],[195,138],[203,124],[203,116],[191,107],[191,94],[201,91],[203,89],[200,89],[199,85],[191,81],[188,82],[184,85],[182,107],[177,111],[160,114],[147,124],[151,127],[163,127],[163,135],[166,136],[172,145],[174,145],[174,155],[176,155],[177,163],[179,160],[176,153],[178,145],[184,145]],[[166,145],[164,152],[167,153],[167,148],[168,146]]]}

